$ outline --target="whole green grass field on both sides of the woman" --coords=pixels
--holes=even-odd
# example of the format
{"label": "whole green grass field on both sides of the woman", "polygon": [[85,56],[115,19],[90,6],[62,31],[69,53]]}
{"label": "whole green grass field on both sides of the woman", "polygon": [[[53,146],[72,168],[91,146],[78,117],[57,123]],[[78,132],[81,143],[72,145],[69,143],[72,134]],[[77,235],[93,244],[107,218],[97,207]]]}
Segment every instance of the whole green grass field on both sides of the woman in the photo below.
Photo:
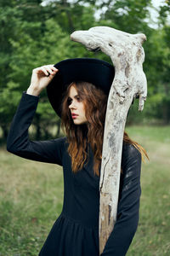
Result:
{"label": "whole green grass field on both sides of the woman", "polygon": [[[127,256],[169,256],[170,126],[126,131],[150,157],[142,164],[139,227]],[[62,209],[62,169],[5,148],[0,157],[0,256],[37,256]]]}

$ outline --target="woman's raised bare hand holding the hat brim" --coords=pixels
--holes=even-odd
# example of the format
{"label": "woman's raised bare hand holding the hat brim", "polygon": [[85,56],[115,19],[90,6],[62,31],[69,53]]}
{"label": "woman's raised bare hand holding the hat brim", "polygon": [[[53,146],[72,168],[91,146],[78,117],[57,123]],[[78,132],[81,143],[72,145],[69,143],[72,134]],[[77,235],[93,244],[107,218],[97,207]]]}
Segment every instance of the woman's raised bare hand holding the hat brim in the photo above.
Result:
{"label": "woman's raised bare hand holding the hat brim", "polygon": [[59,70],[54,65],[45,65],[32,70],[31,84],[26,93],[38,96],[47,87]]}

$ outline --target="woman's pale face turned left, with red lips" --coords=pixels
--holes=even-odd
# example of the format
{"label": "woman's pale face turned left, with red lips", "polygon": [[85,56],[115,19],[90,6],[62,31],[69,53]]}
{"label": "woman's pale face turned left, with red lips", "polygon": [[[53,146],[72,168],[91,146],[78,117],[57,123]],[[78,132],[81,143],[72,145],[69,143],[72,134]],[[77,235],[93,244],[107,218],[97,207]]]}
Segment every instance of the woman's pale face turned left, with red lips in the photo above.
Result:
{"label": "woman's pale face turned left, with red lips", "polygon": [[68,102],[74,124],[87,124],[88,120],[85,115],[84,103],[80,99],[80,96],[78,96],[77,89],[73,85],[71,85]]}

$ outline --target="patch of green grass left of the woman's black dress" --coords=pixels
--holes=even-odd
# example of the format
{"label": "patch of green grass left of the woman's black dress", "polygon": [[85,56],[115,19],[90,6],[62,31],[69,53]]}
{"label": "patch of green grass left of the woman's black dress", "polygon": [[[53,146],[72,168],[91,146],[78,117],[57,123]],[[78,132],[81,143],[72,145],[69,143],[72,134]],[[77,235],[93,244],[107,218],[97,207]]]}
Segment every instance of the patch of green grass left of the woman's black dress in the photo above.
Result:
{"label": "patch of green grass left of the woman's black dress", "polygon": [[62,169],[0,155],[0,256],[35,256],[62,208]]}

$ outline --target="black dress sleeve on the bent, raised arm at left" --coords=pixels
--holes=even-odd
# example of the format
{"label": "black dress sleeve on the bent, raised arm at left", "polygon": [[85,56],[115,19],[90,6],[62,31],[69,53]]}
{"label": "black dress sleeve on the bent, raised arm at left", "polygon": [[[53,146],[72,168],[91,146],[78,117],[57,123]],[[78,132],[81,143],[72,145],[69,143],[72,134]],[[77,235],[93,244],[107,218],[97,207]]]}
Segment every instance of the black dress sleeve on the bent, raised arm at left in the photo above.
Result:
{"label": "black dress sleeve on the bent, raised arm at left", "polygon": [[39,96],[24,91],[14,114],[7,137],[7,150],[20,157],[62,166],[62,152],[65,137],[48,141],[31,141],[28,128],[37,109]]}

